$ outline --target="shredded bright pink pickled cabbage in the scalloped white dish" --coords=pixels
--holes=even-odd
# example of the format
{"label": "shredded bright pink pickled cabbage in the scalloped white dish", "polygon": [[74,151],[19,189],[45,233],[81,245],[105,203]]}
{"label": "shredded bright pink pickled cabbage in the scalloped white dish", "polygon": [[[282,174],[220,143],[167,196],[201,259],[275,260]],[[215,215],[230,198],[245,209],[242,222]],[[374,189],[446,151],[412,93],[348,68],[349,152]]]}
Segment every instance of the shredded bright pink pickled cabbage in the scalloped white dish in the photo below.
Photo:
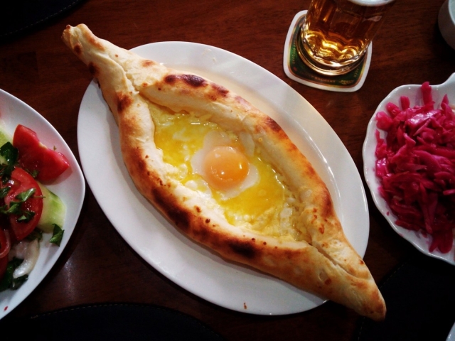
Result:
{"label": "shredded bright pink pickled cabbage in the scalloped white dish", "polygon": [[422,106],[388,103],[378,112],[376,176],[397,225],[432,236],[429,251],[451,250],[455,226],[455,114],[447,95],[434,109],[432,87],[421,87]]}

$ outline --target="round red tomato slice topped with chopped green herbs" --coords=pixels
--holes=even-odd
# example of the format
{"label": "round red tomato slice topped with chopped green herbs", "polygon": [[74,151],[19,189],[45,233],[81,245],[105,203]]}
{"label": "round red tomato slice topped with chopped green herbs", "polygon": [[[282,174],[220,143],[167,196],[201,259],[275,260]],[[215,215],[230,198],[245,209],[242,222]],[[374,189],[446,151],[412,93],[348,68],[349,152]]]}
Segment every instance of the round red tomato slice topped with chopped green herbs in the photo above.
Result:
{"label": "round red tomato slice topped with chopped green herbs", "polygon": [[9,205],[11,201],[14,201],[14,198],[19,193],[30,190],[31,188],[35,189],[33,196],[29,197],[26,202],[21,204],[22,210],[35,212],[35,215],[33,215],[31,220],[28,222],[18,222],[17,215],[9,216],[11,231],[16,240],[19,241],[27,237],[38,224],[41,213],[43,212],[43,198],[41,197],[43,193],[36,180],[22,168],[14,168],[13,173],[11,173],[11,180],[6,185],[11,188],[8,195],[4,198],[6,205]]}

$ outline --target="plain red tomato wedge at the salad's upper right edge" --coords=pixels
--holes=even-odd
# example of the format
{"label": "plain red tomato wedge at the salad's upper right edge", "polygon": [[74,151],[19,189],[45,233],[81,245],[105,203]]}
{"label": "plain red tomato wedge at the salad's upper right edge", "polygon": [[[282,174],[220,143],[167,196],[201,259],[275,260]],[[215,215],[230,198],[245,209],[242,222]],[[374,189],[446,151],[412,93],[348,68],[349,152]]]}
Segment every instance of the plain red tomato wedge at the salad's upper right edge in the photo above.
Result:
{"label": "plain red tomato wedge at the salad's upper right edge", "polygon": [[13,146],[18,149],[21,166],[31,172],[38,171],[37,180],[53,180],[70,166],[62,153],[42,144],[35,131],[21,124],[14,131]]}

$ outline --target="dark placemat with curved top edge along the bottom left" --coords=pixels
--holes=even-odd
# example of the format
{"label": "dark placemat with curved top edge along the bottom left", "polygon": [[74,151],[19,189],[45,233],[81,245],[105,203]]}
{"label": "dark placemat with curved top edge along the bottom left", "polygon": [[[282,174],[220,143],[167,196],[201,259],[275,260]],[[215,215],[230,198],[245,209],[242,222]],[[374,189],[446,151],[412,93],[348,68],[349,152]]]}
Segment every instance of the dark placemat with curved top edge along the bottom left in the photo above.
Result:
{"label": "dark placemat with curved top edge along the bottom left", "polygon": [[[21,340],[223,340],[196,318],[155,305],[82,305],[0,320]],[[20,332],[18,332],[20,330]]]}

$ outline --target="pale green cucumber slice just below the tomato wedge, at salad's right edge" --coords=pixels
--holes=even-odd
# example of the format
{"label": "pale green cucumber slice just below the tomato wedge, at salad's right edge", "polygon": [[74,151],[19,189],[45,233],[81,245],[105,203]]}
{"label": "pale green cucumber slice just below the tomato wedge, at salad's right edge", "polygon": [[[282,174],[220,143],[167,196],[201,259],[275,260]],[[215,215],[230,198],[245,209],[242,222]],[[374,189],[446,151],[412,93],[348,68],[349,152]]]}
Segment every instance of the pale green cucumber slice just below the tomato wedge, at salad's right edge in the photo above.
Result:
{"label": "pale green cucumber slice just below the tomato wedge, at salad's right edge", "polygon": [[38,229],[41,229],[45,233],[52,233],[54,230],[54,224],[58,224],[63,228],[65,222],[66,206],[63,201],[51,192],[45,185],[38,183],[43,192],[43,213],[38,222]]}

